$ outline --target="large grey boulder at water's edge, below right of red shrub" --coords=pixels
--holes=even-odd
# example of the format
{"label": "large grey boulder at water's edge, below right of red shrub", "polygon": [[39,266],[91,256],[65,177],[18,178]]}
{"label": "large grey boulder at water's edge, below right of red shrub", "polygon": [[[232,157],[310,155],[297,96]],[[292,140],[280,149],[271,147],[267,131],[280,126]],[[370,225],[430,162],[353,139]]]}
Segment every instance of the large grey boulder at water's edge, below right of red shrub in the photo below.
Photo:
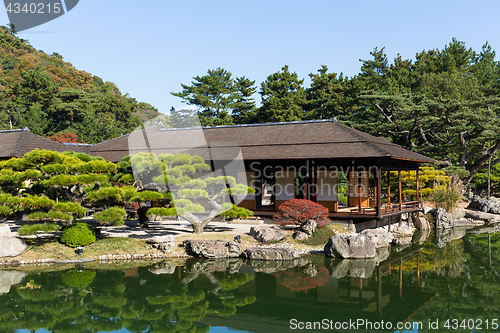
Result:
{"label": "large grey boulder at water's edge, below right of red shrub", "polygon": [[363,234],[343,234],[330,237],[324,248],[325,255],[343,259],[375,257],[375,244]]}

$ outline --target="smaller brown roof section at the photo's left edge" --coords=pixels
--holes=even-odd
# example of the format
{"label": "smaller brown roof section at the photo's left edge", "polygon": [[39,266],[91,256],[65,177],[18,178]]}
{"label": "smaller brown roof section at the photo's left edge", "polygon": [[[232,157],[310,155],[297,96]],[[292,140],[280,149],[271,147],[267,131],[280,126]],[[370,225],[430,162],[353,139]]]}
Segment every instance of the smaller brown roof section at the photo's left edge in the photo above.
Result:
{"label": "smaller brown roof section at the photo's left edge", "polygon": [[22,157],[34,149],[88,153],[89,146],[66,146],[27,130],[0,131],[0,158]]}

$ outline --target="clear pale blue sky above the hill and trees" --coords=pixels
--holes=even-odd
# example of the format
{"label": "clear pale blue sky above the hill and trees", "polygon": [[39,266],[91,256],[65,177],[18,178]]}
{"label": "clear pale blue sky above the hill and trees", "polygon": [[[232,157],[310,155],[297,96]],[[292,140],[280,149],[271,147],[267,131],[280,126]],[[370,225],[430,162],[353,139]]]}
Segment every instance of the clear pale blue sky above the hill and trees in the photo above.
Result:
{"label": "clear pale blue sky above the hill and trees", "polygon": [[376,46],[390,60],[442,49],[453,37],[500,52],[499,12],[498,1],[80,0],[19,35],[168,112],[184,106],[171,91],[217,67],[260,85],[286,64],[308,85],[323,64],[357,74]]}

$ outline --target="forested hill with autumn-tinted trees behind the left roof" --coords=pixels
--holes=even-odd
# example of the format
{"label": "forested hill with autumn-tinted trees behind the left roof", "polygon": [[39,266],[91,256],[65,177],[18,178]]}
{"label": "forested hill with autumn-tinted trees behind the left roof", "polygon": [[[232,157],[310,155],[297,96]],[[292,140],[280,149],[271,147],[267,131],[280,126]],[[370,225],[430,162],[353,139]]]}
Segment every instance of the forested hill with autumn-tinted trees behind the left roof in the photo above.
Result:
{"label": "forested hill with autumn-tinted trees behind the left roof", "polygon": [[37,51],[5,26],[0,26],[0,65],[0,129],[28,127],[52,139],[97,143],[158,114],[58,53]]}

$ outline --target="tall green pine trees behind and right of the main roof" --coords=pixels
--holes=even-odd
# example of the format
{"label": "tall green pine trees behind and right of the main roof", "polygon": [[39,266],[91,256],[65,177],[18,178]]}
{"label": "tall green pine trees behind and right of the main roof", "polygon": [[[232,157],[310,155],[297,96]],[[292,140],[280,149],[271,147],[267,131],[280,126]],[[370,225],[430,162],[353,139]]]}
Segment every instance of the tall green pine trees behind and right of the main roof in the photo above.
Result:
{"label": "tall green pine trees behind and right of the main roof", "polygon": [[[469,184],[491,159],[500,162],[500,63],[485,43],[480,51],[453,39],[415,59],[375,48],[357,75],[321,66],[311,84],[288,66],[260,84],[223,68],[182,84],[180,97],[195,106],[202,126],[332,119],[440,161]],[[189,112],[172,109],[171,113]],[[478,177],[482,179],[484,177]],[[484,184],[474,184],[481,188]]]}

